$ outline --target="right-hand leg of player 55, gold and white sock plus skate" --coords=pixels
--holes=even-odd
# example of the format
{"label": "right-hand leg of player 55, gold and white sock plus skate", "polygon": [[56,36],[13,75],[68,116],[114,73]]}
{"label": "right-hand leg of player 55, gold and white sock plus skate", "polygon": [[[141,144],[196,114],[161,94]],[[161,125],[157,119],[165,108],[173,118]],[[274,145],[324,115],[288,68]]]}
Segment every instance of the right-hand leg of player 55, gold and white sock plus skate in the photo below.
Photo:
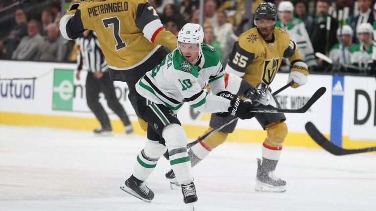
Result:
{"label": "right-hand leg of player 55, gold and white sock plus skate", "polygon": [[258,158],[256,175],[257,191],[284,192],[286,182],[278,178],[274,171],[281,156],[282,145],[287,136],[286,120],[282,113],[258,113],[256,119],[267,131],[267,137],[262,144],[262,162]]}

